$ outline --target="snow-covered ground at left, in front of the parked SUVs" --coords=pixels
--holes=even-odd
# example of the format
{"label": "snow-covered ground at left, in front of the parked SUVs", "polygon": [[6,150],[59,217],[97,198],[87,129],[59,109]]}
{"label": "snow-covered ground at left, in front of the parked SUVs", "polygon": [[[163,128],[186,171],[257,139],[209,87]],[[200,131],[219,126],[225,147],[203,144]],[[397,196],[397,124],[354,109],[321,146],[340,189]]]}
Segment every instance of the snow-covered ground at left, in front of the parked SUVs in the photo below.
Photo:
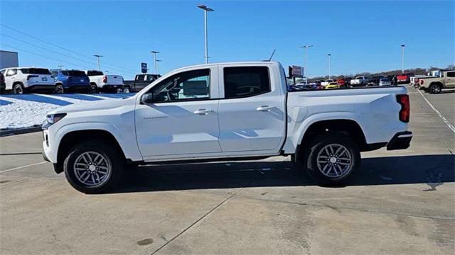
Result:
{"label": "snow-covered ground at left, in front of the parked SUVs", "polygon": [[61,106],[101,100],[116,100],[134,94],[24,94],[0,95],[0,129],[41,125],[49,111]]}

